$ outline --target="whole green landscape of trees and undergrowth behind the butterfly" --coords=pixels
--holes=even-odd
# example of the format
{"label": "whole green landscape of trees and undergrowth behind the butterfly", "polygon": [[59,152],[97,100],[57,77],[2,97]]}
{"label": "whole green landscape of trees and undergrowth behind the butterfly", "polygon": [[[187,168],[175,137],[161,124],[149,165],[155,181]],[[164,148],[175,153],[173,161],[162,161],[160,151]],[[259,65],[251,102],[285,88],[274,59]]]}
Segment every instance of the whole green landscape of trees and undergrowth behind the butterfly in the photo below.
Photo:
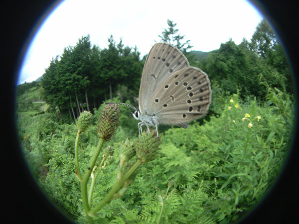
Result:
{"label": "whole green landscape of trees and undergrowth behind the butterfly", "polygon": [[[89,35],[81,37],[51,60],[38,81],[16,87],[18,139],[28,168],[49,200],[76,223],[234,223],[259,204],[281,172],[293,139],[296,96],[288,57],[267,22],[259,23],[250,41],[237,45],[230,39],[211,52],[191,51],[192,41],[176,23],[167,25],[157,34],[160,41],[208,74],[212,104],[187,129],[159,126],[157,142],[141,143],[131,108],[119,106],[118,113],[104,105],[138,108],[146,60],[138,46],[116,43],[112,35],[104,49],[92,46]],[[116,113],[112,136],[95,153],[103,117]],[[120,173],[139,161],[140,144],[157,151],[103,204]],[[127,147],[137,156],[123,160]],[[99,159],[90,170],[95,154]],[[88,204],[83,171],[91,178],[84,180]],[[93,218],[87,215],[86,209],[101,203]]]}

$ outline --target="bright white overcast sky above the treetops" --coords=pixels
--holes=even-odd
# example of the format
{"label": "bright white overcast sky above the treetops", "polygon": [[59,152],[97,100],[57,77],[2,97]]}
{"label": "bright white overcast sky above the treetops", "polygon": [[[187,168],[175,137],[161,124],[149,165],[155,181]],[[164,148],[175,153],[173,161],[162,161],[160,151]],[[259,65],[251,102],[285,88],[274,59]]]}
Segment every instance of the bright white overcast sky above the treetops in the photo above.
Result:
{"label": "bright white overcast sky above the treetops", "polygon": [[90,34],[92,45],[107,47],[112,34],[116,43],[135,47],[141,57],[159,42],[167,19],[177,23],[192,50],[211,51],[232,38],[250,41],[261,13],[246,0],[65,0],[41,24],[23,59],[18,84],[42,76],[52,57]]}

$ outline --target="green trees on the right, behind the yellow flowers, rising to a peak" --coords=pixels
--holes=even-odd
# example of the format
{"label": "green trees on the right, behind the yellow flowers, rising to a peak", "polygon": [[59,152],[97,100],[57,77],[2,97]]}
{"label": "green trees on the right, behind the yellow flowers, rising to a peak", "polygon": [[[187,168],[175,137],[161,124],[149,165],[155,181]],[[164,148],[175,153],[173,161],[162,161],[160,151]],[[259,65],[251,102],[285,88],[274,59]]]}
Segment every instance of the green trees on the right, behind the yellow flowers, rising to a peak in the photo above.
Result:
{"label": "green trees on the right, behind the yellow flowers, rising to a peak", "polygon": [[243,39],[240,45],[236,45],[229,40],[218,50],[209,52],[209,56],[198,65],[209,75],[212,83],[216,81],[229,94],[240,92],[242,99],[248,96],[259,100],[265,98],[267,91],[259,85],[260,74],[264,75],[270,87],[294,93],[288,59],[264,20],[258,25],[250,43]]}

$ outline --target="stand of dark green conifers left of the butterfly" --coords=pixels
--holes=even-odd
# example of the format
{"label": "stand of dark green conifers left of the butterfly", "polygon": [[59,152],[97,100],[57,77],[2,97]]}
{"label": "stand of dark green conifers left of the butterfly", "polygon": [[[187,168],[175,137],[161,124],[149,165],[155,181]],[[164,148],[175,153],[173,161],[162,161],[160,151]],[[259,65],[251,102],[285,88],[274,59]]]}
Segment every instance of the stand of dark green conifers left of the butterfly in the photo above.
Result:
{"label": "stand of dark green conifers left of the butterfly", "polygon": [[[110,99],[118,94],[122,101],[138,94],[143,65],[137,47],[124,47],[122,40],[116,45],[111,35],[108,48],[101,50],[92,47],[89,38],[84,36],[76,46],[64,48],[41,80],[42,98],[60,115],[72,112],[76,118],[84,109],[92,111],[108,94]],[[124,92],[124,84],[130,91]]]}

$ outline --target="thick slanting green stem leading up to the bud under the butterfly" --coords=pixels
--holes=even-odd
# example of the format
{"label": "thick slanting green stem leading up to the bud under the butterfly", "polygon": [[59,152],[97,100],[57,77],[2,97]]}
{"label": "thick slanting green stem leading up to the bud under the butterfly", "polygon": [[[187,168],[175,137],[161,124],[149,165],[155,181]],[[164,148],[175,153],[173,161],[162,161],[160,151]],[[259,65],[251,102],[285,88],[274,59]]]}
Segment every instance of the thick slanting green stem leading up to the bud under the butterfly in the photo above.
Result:
{"label": "thick slanting green stem leading up to the bud under the butterfly", "polygon": [[128,172],[123,176],[123,178],[115,183],[115,185],[111,188],[111,190],[108,192],[106,197],[100,202],[100,204],[90,211],[89,215],[92,217],[95,216],[95,213],[101,210],[113,198],[114,194],[120,190],[120,188],[126,182],[126,180],[130,178],[130,176],[137,170],[137,168],[141,164],[142,161],[138,159],[135,162],[135,164],[128,170]]}

